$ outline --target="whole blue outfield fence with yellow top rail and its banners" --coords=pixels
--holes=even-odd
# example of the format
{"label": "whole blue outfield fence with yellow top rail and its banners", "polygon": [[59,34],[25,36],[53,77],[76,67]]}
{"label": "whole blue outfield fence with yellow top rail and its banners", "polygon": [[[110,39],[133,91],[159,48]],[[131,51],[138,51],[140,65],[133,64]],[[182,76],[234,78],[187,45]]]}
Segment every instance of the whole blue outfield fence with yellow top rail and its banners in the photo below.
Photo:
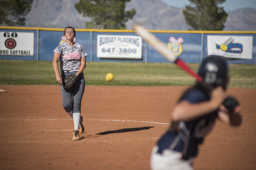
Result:
{"label": "whole blue outfield fence with yellow top rail and its banners", "polygon": [[[222,55],[229,63],[256,64],[256,31],[150,32],[186,63]],[[55,28],[0,27],[0,59],[52,61],[63,33]],[[87,62],[168,63],[132,30],[76,29],[75,42],[85,48]]]}

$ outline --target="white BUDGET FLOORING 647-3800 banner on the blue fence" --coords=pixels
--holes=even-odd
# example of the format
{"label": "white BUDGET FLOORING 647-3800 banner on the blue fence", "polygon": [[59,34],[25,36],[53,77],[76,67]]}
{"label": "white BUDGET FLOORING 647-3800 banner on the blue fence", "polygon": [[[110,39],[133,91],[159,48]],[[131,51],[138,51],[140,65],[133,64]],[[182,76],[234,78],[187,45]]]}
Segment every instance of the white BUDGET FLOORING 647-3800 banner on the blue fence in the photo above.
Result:
{"label": "white BUDGET FLOORING 647-3800 banner on the blue fence", "polygon": [[142,58],[142,38],[135,35],[97,35],[98,58]]}

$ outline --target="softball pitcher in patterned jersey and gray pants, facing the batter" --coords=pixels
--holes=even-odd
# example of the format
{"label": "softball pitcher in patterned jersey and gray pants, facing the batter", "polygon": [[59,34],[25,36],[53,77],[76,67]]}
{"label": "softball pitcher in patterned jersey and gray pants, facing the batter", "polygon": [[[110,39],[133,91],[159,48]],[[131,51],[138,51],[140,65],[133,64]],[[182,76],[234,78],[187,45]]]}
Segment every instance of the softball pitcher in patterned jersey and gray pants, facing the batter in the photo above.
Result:
{"label": "softball pitcher in patterned jersey and gray pants, facing the batter", "polygon": [[[73,27],[66,27],[64,36],[66,41],[58,45],[53,51],[52,65],[56,74],[56,80],[60,84],[62,105],[74,120],[73,141],[76,141],[80,139],[79,132],[84,133],[81,101],[85,87],[83,70],[86,67],[87,53],[82,45],[74,42],[76,31]],[[58,60],[60,60],[61,76]],[[64,89],[64,79],[72,77],[72,75],[76,77],[74,85],[71,88]]]}

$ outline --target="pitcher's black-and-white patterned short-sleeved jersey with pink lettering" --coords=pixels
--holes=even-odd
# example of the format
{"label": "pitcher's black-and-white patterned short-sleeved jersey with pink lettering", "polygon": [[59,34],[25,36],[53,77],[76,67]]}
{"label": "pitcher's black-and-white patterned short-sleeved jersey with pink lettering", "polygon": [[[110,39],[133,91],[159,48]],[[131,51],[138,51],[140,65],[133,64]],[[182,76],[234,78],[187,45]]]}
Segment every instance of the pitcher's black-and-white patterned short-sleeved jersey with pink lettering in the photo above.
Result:
{"label": "pitcher's black-and-white patterned short-sleeved jersey with pink lettering", "polygon": [[78,43],[74,43],[73,47],[67,42],[61,43],[53,52],[61,54],[60,70],[64,71],[78,71],[81,66],[81,58],[87,56],[84,47]]}

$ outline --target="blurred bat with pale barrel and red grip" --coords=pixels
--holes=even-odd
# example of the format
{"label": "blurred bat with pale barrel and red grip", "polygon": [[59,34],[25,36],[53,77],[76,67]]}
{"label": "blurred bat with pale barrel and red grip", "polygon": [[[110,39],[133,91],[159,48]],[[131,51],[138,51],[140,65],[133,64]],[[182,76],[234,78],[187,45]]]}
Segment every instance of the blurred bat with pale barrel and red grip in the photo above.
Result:
{"label": "blurred bat with pale barrel and red grip", "polygon": [[154,36],[152,33],[148,32],[144,27],[142,27],[139,24],[135,24],[133,26],[133,30],[140,36],[142,39],[144,39],[146,42],[148,42],[158,53],[160,53],[165,59],[168,61],[175,63],[180,68],[188,72],[190,75],[192,75],[198,82],[202,82],[202,77],[199,76],[192,70],[188,65],[182,61],[182,59],[178,58],[172,51],[170,51],[165,43],[160,41],[156,36]]}

